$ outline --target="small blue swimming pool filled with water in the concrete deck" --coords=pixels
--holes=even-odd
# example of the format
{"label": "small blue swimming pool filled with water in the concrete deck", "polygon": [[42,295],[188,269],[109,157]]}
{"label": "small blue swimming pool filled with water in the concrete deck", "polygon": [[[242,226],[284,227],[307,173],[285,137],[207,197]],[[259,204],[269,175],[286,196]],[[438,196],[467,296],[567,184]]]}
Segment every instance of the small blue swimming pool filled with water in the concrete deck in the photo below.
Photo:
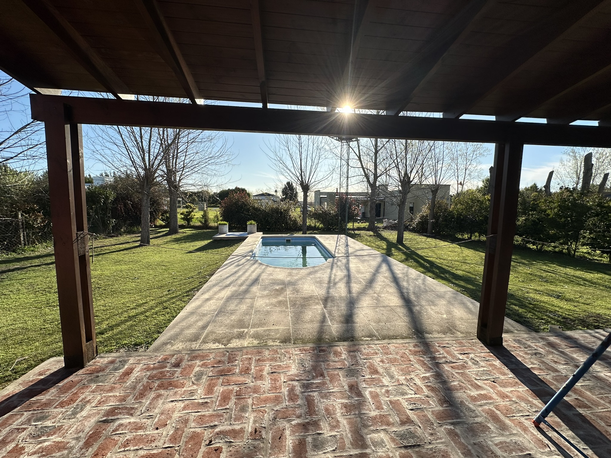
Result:
{"label": "small blue swimming pool filled with water in the concrete deck", "polygon": [[262,238],[252,259],[277,267],[318,266],[333,256],[318,240],[310,237]]}

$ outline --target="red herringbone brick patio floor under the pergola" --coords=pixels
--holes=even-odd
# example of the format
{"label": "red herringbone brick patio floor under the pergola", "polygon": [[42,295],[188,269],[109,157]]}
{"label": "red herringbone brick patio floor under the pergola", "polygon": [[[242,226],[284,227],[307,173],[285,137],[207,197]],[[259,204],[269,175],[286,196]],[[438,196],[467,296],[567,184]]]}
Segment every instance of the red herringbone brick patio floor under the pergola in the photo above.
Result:
{"label": "red herringbone brick patio floor under the pergola", "polygon": [[[579,456],[530,419],[603,336],[105,354],[0,417],[0,456]],[[549,417],[588,457],[611,456],[609,380],[606,355]]]}

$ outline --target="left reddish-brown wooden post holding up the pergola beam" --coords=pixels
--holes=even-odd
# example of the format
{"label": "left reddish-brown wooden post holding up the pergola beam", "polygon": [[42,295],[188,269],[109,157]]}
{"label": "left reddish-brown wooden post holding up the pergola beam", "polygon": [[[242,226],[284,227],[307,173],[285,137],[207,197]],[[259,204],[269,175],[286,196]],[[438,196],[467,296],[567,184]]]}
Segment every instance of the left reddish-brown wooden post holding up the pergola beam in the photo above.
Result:
{"label": "left reddish-brown wooden post holding up the pergola beam", "polygon": [[49,198],[64,365],[95,357],[81,128],[68,123],[69,107],[47,104],[45,120]]}

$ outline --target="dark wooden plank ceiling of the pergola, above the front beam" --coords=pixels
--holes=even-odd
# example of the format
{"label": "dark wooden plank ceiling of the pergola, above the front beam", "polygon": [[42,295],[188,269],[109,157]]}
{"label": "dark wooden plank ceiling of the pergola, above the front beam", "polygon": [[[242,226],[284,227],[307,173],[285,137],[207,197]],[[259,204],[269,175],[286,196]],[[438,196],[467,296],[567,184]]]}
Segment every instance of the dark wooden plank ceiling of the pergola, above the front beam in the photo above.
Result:
{"label": "dark wooden plank ceiling of the pergola, above the front beam", "polygon": [[[611,121],[611,0],[3,0],[37,92]],[[42,89],[42,90],[41,90]]]}

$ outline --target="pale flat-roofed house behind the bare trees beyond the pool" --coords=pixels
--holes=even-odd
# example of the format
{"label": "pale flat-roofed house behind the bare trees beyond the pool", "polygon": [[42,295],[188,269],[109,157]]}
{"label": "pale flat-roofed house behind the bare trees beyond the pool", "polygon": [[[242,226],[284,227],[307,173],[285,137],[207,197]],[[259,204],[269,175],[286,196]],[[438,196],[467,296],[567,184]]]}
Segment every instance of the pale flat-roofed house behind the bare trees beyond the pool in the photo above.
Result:
{"label": "pale flat-roofed house behind the bare trees beyond the pool", "polygon": [[[408,194],[408,204],[405,208],[405,220],[410,221],[422,211],[423,206],[428,205],[431,200],[431,189],[428,184],[415,184]],[[342,192],[342,195],[345,194]],[[361,217],[369,217],[369,193],[368,192],[348,192],[349,197],[357,200],[362,206]],[[397,219],[399,208],[398,191],[391,191],[381,187],[376,201],[376,218]],[[315,191],[314,205],[335,205],[335,191]],[[450,185],[444,184],[437,193],[437,201],[445,200],[450,203]]]}

